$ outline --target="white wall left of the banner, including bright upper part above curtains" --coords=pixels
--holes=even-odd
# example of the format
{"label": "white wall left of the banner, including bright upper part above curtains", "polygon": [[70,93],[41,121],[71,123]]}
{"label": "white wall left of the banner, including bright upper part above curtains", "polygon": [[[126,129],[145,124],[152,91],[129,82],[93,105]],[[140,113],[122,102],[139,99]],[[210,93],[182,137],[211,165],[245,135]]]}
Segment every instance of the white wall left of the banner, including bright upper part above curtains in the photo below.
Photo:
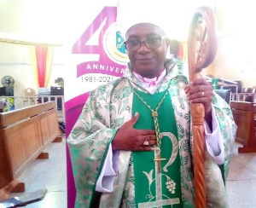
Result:
{"label": "white wall left of the banner, including bright upper part above curtains", "polygon": [[[26,39],[28,37],[32,38],[31,42],[43,40],[44,43],[52,43],[52,40],[49,42],[49,39],[45,38],[49,38],[49,34],[58,35],[57,33],[61,31],[63,9],[60,9],[60,3],[59,0],[1,0],[0,34],[5,32],[11,38]],[[41,37],[38,38],[38,34]],[[0,38],[4,35],[1,34]],[[56,85],[55,78],[64,77],[61,48],[56,46],[53,49],[53,62],[47,87]],[[23,90],[27,87],[38,91],[38,84],[32,71],[29,45],[0,41],[0,87],[1,80],[6,75],[15,79],[15,96],[22,96]]]}

